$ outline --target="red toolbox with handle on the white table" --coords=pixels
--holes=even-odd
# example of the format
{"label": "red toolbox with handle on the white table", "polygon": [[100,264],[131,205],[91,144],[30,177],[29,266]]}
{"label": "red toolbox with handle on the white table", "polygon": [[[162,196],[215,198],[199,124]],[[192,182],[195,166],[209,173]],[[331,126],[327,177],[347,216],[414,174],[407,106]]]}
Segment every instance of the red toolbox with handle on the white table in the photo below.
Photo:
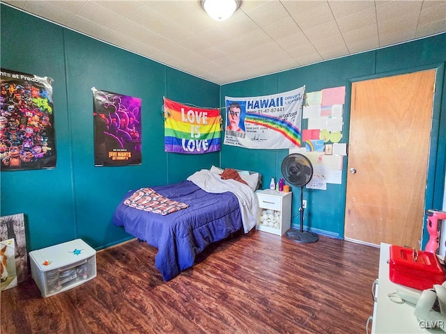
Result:
{"label": "red toolbox with handle on the white table", "polygon": [[438,257],[422,250],[390,246],[390,280],[419,290],[445,282],[445,271]]}

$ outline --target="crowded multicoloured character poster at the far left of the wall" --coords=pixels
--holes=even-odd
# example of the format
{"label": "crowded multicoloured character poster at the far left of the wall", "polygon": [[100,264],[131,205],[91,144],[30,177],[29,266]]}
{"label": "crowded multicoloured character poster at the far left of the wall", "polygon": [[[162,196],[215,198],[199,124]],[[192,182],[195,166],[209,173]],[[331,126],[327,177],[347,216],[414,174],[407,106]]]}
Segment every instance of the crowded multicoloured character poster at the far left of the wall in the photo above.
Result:
{"label": "crowded multicoloured character poster at the far left of the wall", "polygon": [[1,69],[0,170],[56,167],[52,79]]}

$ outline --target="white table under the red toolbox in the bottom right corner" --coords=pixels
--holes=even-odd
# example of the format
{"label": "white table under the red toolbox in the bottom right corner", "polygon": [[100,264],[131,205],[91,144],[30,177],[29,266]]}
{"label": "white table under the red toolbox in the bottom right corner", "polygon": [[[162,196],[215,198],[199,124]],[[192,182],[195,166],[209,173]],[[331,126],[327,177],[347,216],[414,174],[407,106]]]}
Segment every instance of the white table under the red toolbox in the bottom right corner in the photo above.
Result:
{"label": "white table under the red toolbox in the bottom right corner", "polygon": [[390,244],[380,244],[378,280],[372,286],[374,291],[374,313],[372,317],[371,333],[374,334],[422,334],[422,333],[445,333],[441,330],[428,331],[423,328],[420,321],[413,314],[414,306],[408,303],[394,303],[387,296],[397,292],[420,293],[420,290],[393,283],[389,278],[390,266]]}

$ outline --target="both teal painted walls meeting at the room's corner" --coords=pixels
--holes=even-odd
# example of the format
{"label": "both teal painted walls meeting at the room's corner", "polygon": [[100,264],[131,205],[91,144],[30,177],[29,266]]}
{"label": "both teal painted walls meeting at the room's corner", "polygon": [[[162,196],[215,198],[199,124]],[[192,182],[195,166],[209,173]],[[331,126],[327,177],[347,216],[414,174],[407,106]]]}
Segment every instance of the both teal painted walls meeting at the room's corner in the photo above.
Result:
{"label": "both teal painted walls meeting at the room's corner", "polygon": [[[348,143],[352,82],[437,68],[426,209],[442,206],[446,173],[446,34],[218,86],[8,6],[1,5],[0,10],[1,67],[54,79],[56,168],[0,173],[1,216],[26,214],[29,250],[78,237],[96,249],[130,239],[112,225],[114,207],[126,191],[179,182],[211,165],[258,170],[265,188],[271,176],[280,177],[288,150],[223,145],[221,152],[203,156],[164,152],[164,96],[196,106],[221,107],[225,96],[270,95],[303,85],[309,92],[346,86],[342,142]],[[93,86],[141,98],[141,166],[94,166]],[[347,163],[348,157],[344,157],[342,184],[328,184],[326,191],[305,189],[305,222],[316,232],[344,237]],[[296,194],[298,190],[293,189]],[[298,207],[299,196],[294,196],[295,226],[299,224]]]}

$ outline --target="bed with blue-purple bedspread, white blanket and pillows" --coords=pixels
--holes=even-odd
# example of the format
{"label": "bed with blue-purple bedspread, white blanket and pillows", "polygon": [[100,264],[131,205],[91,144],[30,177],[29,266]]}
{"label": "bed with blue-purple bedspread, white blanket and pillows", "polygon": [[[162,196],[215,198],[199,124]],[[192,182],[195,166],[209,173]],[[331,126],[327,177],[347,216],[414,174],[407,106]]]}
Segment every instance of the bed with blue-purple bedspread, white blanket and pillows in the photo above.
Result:
{"label": "bed with blue-purple bedspread, white blanket and pillows", "polygon": [[[157,248],[155,267],[164,280],[192,267],[195,255],[209,244],[238,230],[247,233],[256,225],[254,190],[259,186],[259,174],[240,171],[240,177],[224,180],[221,171],[213,166],[177,184],[130,190],[116,207],[114,225]],[[141,202],[143,193],[170,201],[168,213],[137,208],[134,203]]]}

